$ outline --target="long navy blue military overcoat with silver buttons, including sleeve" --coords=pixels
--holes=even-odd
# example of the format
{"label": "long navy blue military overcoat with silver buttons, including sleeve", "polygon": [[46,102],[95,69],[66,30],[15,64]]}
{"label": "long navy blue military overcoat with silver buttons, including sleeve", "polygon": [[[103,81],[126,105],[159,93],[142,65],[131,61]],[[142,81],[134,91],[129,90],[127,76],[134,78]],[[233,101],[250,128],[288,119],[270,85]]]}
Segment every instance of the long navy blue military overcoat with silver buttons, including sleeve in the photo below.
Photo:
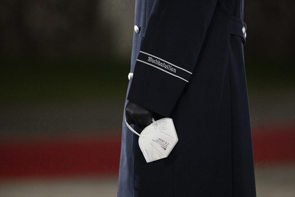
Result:
{"label": "long navy blue military overcoat with silver buttons, including sleeve", "polygon": [[118,197],[255,197],[243,0],[135,2],[126,102],[172,118],[178,142],[147,163],[123,122]]}

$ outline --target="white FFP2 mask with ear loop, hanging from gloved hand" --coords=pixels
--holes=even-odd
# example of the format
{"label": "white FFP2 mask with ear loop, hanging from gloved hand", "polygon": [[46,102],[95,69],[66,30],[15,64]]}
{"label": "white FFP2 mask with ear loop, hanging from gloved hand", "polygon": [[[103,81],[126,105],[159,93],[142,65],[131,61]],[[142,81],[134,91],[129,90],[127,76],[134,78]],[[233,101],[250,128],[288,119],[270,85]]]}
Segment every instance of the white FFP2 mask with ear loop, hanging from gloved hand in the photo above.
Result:
{"label": "white FFP2 mask with ear loop, hanging from gloved hand", "polygon": [[168,157],[178,138],[171,118],[162,118],[148,125],[139,134],[126,121],[127,127],[139,136],[138,143],[147,161],[153,162]]}

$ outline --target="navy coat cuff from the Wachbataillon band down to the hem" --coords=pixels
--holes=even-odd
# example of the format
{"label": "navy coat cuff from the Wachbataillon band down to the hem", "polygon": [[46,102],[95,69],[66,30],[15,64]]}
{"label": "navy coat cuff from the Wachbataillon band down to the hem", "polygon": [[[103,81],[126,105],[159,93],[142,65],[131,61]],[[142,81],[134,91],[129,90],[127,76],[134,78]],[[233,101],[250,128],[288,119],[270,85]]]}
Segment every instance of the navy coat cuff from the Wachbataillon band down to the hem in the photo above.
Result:
{"label": "navy coat cuff from the Wachbataillon band down to the hem", "polygon": [[127,99],[169,117],[190,75],[188,70],[140,51]]}

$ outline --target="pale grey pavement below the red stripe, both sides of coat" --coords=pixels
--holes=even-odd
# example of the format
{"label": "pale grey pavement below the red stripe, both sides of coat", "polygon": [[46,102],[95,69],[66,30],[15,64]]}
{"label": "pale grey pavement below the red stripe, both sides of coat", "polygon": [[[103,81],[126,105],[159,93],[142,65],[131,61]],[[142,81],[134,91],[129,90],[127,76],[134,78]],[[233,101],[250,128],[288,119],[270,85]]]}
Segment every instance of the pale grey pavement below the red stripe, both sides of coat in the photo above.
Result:
{"label": "pale grey pavement below the red stripe, both sides of coat", "polygon": [[[255,169],[257,197],[295,197],[294,165]],[[5,180],[0,197],[116,197],[117,177]]]}

